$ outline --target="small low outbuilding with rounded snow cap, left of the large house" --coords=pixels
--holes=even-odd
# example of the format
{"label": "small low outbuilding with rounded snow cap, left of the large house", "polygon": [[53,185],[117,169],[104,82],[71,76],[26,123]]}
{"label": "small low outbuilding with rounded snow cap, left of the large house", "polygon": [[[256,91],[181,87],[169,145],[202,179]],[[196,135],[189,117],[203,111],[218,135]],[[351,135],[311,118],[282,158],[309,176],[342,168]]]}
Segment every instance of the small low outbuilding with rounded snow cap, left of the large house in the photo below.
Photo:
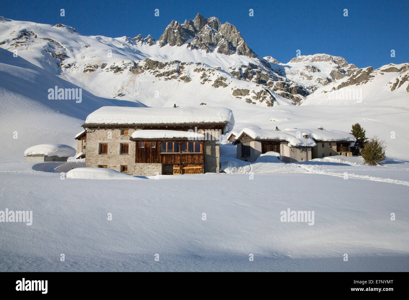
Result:
{"label": "small low outbuilding with rounded snow cap, left of the large house", "polygon": [[64,144],[40,144],[27,148],[24,157],[27,162],[66,162],[75,152]]}

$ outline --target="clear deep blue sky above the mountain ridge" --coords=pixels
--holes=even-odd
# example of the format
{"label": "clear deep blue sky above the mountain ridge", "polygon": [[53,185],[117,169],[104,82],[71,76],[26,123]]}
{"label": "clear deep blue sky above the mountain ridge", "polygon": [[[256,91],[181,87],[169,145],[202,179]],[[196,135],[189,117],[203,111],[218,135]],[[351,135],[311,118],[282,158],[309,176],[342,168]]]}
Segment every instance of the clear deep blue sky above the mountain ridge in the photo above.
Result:
{"label": "clear deep blue sky above the mountain ridge", "polygon": [[[328,53],[357,67],[409,62],[408,0],[344,1],[6,1],[0,15],[13,20],[63,23],[83,35],[109,37],[149,33],[158,39],[171,20],[197,13],[234,24],[259,56],[288,62],[296,56]],[[60,9],[65,9],[65,17]],[[159,9],[160,16],[154,11]],[[249,16],[254,9],[254,17]],[[348,17],[343,10],[348,9]],[[0,24],[1,26],[1,24]],[[391,49],[396,57],[391,57]]]}

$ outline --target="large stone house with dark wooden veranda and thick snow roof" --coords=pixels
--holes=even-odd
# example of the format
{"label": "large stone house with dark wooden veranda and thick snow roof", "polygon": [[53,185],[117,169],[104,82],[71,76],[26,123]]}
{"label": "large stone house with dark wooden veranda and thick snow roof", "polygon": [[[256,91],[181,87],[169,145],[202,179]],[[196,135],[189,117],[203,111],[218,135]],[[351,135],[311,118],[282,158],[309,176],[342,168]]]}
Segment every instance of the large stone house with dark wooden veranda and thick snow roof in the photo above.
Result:
{"label": "large stone house with dark wooden veranda and thick snow roof", "polygon": [[145,176],[218,173],[219,138],[234,117],[219,107],[101,107],[82,126],[85,167]]}

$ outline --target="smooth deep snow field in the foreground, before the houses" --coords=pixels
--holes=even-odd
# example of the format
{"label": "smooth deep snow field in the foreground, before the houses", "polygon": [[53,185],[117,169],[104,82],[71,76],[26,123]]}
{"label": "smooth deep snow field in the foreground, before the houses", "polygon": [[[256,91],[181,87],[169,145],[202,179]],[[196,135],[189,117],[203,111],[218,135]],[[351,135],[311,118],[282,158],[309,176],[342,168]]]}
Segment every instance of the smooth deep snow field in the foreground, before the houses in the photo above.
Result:
{"label": "smooth deep snow field in the foreground, before the houses", "polygon": [[[227,173],[135,180],[1,162],[0,209],[31,210],[33,224],[0,223],[0,271],[409,271],[408,160],[246,166],[230,147]],[[287,209],[314,211],[314,225],[281,222]]]}

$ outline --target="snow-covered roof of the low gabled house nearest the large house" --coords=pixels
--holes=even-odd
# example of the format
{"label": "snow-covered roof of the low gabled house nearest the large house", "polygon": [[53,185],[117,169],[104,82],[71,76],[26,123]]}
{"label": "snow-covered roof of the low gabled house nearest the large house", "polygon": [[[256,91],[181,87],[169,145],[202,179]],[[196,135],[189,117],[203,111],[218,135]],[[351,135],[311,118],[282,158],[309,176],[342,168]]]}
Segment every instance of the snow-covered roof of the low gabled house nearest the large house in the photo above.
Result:
{"label": "snow-covered roof of the low gabled house nearest the large house", "polygon": [[240,131],[236,141],[243,133],[254,140],[285,140],[288,142],[288,146],[293,147],[315,147],[317,145],[312,138],[304,138],[302,134],[297,134],[297,132],[252,128],[245,128]]}

